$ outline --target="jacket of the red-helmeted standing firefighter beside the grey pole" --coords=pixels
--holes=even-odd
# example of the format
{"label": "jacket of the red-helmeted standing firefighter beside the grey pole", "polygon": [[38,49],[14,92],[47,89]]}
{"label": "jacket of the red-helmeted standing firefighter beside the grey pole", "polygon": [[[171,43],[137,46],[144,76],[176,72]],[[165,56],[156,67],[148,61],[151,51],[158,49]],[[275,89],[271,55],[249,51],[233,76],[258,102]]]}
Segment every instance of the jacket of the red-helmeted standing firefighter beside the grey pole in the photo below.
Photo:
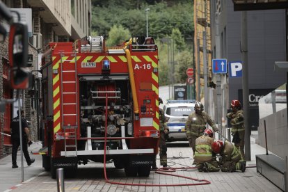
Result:
{"label": "jacket of the red-helmeted standing firefighter beside the grey pole", "polygon": [[235,134],[236,131],[245,131],[244,129],[244,118],[243,118],[243,110],[238,110],[234,113],[227,113],[227,118],[231,119],[231,125],[232,125],[232,134]]}

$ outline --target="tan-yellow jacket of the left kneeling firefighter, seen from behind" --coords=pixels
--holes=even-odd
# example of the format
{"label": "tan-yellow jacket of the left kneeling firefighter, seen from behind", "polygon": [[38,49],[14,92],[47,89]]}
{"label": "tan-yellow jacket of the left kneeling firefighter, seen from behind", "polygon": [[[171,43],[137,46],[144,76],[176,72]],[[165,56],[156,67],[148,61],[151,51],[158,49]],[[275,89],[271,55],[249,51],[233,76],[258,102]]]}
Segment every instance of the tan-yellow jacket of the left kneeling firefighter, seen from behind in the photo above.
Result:
{"label": "tan-yellow jacket of the left kneeling firefighter, seen from behind", "polygon": [[194,160],[198,163],[207,162],[212,160],[211,145],[214,143],[214,139],[209,136],[200,136],[196,138],[196,151],[194,154]]}

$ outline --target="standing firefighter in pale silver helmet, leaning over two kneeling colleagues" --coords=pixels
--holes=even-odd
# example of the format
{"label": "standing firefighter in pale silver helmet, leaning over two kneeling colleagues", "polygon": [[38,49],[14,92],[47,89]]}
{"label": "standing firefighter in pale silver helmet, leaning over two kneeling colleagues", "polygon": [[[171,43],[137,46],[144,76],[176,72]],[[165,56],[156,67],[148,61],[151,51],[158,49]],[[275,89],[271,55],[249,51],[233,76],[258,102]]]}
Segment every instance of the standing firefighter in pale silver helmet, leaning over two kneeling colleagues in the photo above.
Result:
{"label": "standing firefighter in pale silver helmet, leaning over two kneeling colleagues", "polygon": [[194,106],[195,112],[191,113],[186,121],[185,130],[186,136],[189,141],[190,147],[192,147],[193,154],[195,154],[195,140],[199,136],[202,136],[206,129],[206,124],[210,125],[214,131],[218,131],[214,120],[204,112],[204,106],[200,102],[196,102]]}

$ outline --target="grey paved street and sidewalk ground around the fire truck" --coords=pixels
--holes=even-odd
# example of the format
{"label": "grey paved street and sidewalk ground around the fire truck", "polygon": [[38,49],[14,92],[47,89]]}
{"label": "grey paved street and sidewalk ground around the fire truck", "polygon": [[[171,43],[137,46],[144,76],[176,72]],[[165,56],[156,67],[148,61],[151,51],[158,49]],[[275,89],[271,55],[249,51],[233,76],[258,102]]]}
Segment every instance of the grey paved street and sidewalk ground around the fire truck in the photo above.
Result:
{"label": "grey paved street and sidewalk ground around the fire truck", "polygon": [[[256,136],[252,134],[251,143],[251,161],[247,166],[256,165],[256,154],[266,154],[266,149],[255,143]],[[192,150],[190,147],[168,146],[168,165],[179,167],[181,165],[191,166]],[[41,145],[33,144],[29,147],[31,150],[39,150]],[[20,163],[20,152],[18,152],[17,163]],[[183,157],[183,158],[179,158]],[[11,155],[0,159],[0,192],[8,191],[57,191],[56,180],[49,177],[49,173],[42,168],[41,155],[34,155],[35,163],[27,166],[24,162],[24,182],[22,183],[21,168],[11,168]],[[174,163],[174,164],[173,164]],[[97,168],[95,168],[97,165]],[[208,179],[211,184],[205,186],[175,186],[175,187],[145,187],[145,186],[122,186],[108,184],[102,174],[102,163],[91,163],[90,168],[81,168],[78,178],[67,179],[65,182],[65,191],[281,191],[265,177],[256,173],[256,168],[246,168],[245,173],[198,173],[198,171],[180,171],[177,174],[197,177],[199,179]],[[157,166],[159,166],[159,156],[157,157]],[[95,174],[97,173],[97,174]],[[113,175],[113,176],[112,176]],[[186,179],[179,177],[170,177],[166,175],[150,173],[150,177],[125,177],[123,170],[115,170],[113,165],[109,165],[109,176],[115,182],[125,183],[146,183],[146,184],[175,184],[186,183]]]}

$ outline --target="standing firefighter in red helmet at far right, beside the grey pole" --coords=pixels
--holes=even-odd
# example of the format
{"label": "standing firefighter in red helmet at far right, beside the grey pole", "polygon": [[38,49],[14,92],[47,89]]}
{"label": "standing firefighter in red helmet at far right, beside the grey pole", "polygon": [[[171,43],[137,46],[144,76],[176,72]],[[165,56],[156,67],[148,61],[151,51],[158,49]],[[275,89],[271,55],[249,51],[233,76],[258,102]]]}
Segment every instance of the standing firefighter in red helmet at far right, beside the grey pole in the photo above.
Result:
{"label": "standing firefighter in red helmet at far right, beside the grey pole", "polygon": [[245,137],[245,128],[244,128],[244,118],[243,110],[241,103],[238,100],[232,100],[231,102],[232,112],[227,113],[227,118],[229,118],[232,125],[232,142],[236,147],[239,148],[242,157],[245,158],[244,154],[244,137]]}

